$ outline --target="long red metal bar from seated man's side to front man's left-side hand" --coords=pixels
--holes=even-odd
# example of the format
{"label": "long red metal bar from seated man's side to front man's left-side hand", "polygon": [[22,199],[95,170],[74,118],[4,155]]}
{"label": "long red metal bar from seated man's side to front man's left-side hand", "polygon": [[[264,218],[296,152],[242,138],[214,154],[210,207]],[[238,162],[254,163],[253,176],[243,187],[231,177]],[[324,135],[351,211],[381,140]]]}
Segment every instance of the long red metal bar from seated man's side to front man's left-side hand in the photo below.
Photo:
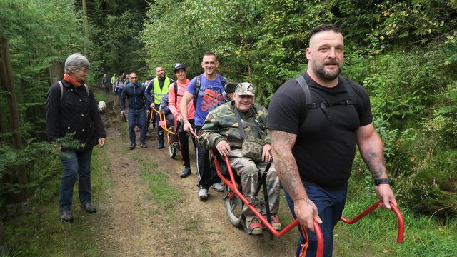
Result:
{"label": "long red metal bar from seated man's side to front man's left-side hand", "polygon": [[[251,211],[254,213],[254,215],[256,215],[258,219],[260,219],[260,221],[266,226],[266,228],[268,228],[269,231],[271,231],[271,233],[273,233],[273,235],[279,236],[279,237],[284,236],[286,233],[288,233],[288,231],[291,231],[292,228],[294,228],[295,226],[298,225],[298,219],[295,219],[295,221],[292,221],[290,224],[288,224],[288,226],[286,226],[286,228],[283,228],[283,230],[281,230],[281,231],[277,231],[275,228],[273,228],[271,223],[269,223],[266,220],[266,218],[264,218],[263,215],[259,211],[257,211],[256,207],[254,207],[252,205],[252,203],[250,201],[248,201],[243,196],[243,194],[238,190],[238,186],[236,186],[235,176],[233,176],[233,171],[230,166],[229,157],[225,156],[224,159],[226,161],[227,168],[229,169],[230,180],[225,178],[222,175],[221,168],[219,167],[219,163],[214,154],[213,154],[213,159],[214,159],[214,166],[216,166],[216,171],[218,173],[218,176],[221,178],[221,180],[227,186],[229,186],[229,188],[231,188],[233,193],[235,193],[236,196],[238,196],[238,198],[240,198],[240,200],[243,201],[243,203],[246,204],[246,206],[248,206],[249,209],[251,209]],[[321,227],[319,226],[319,223],[317,223],[317,221],[314,221],[314,231],[316,231],[317,245],[318,245],[316,256],[321,257],[323,255],[323,234],[321,231]]]}

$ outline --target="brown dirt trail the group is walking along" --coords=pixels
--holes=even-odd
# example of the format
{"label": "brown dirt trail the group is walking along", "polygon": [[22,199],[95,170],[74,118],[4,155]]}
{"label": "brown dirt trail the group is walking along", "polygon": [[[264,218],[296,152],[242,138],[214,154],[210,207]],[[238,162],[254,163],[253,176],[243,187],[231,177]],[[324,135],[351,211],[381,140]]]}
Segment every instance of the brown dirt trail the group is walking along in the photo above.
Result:
{"label": "brown dirt trail the group is walking along", "polygon": [[[226,217],[222,193],[210,189],[207,201],[197,197],[195,156],[191,156],[192,174],[179,178],[181,156],[171,159],[166,148],[156,149],[156,130],[146,138],[149,148],[130,151],[128,136],[121,131],[117,111],[104,115],[108,141],[104,151],[109,165],[106,181],[112,186],[99,191],[96,214],[97,248],[102,256],[294,256],[298,231],[269,240],[248,236]],[[137,140],[139,133],[137,133]],[[139,143],[137,143],[139,145]],[[191,146],[193,147],[193,146]],[[157,163],[150,172],[169,174],[168,183],[180,193],[178,204],[161,210],[151,198],[147,181],[142,178],[140,161]],[[281,197],[280,218],[289,217]]]}

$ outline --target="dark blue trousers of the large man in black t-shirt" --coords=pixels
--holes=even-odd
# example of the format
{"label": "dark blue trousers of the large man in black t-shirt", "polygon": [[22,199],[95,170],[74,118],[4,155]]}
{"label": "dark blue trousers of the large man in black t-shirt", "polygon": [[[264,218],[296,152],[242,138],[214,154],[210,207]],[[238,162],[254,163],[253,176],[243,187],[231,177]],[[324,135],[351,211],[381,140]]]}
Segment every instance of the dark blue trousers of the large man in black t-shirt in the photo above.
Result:
{"label": "dark blue trousers of the large man in black t-shirt", "polygon": [[[323,256],[331,256],[333,251],[333,228],[335,228],[336,223],[340,221],[341,215],[343,213],[344,204],[346,203],[346,196],[348,193],[348,184],[346,183],[343,188],[338,190],[326,190],[318,186],[305,186],[306,194],[308,198],[313,201],[316,205],[319,217],[322,220],[320,224],[321,231],[323,234]],[[293,201],[291,196],[288,195],[286,190],[286,201],[288,207],[291,209],[293,218],[296,218],[295,212],[293,211]],[[298,241],[297,256],[301,251],[301,244],[306,243],[303,238],[302,231],[300,231],[300,240]],[[317,238],[316,233],[311,232],[309,229],[306,229],[308,233],[309,243],[308,250],[306,251],[306,256],[316,256],[317,251]]]}

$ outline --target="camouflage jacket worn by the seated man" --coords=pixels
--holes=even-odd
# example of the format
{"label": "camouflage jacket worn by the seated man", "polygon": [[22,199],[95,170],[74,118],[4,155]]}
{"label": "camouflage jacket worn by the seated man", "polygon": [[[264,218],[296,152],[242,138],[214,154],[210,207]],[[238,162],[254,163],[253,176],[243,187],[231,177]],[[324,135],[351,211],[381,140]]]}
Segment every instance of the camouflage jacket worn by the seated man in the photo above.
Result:
{"label": "camouflage jacket worn by the seated man", "polygon": [[[232,149],[241,148],[243,139],[240,136],[235,108],[235,101],[230,101],[209,112],[199,131],[201,146],[214,149],[220,141],[226,140]],[[252,104],[246,114],[240,112],[244,134],[262,138],[263,144],[271,143],[268,129],[266,129],[267,114],[266,108],[256,103]],[[258,134],[254,119],[258,121],[261,135]]]}

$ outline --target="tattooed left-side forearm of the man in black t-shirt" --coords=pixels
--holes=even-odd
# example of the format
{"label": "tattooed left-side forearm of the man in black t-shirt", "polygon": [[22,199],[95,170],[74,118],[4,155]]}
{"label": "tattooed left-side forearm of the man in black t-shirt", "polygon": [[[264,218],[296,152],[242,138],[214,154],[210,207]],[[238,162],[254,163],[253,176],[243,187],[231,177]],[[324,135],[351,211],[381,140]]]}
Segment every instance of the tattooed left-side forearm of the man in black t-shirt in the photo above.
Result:
{"label": "tattooed left-side forearm of the man in black t-shirt", "polygon": [[291,149],[295,144],[296,135],[282,131],[270,131],[271,148],[278,176],[291,196],[297,196],[303,188],[298,167]]}

